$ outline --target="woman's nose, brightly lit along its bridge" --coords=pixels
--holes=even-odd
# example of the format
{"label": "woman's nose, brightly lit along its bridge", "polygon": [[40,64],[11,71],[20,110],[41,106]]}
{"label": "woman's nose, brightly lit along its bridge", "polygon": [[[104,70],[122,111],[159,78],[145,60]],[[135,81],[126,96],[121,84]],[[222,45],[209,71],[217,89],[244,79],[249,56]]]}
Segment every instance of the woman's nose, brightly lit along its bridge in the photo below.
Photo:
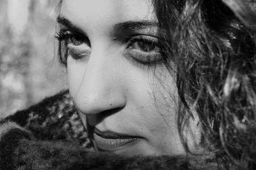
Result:
{"label": "woman's nose, brightly lit along its bridge", "polygon": [[122,68],[106,50],[92,52],[81,73],[74,102],[84,114],[92,115],[124,107]]}

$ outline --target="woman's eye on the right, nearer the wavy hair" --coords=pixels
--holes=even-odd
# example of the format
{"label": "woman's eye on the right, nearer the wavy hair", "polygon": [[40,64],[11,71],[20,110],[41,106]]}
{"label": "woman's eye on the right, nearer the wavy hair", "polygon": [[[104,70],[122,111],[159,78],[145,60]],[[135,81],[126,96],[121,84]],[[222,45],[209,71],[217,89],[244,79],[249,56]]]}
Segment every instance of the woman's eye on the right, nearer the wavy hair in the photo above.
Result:
{"label": "woman's eye on the right, nearer the wavy hair", "polygon": [[148,35],[138,35],[129,38],[127,54],[129,58],[142,65],[160,63],[162,56],[159,51],[158,38]]}

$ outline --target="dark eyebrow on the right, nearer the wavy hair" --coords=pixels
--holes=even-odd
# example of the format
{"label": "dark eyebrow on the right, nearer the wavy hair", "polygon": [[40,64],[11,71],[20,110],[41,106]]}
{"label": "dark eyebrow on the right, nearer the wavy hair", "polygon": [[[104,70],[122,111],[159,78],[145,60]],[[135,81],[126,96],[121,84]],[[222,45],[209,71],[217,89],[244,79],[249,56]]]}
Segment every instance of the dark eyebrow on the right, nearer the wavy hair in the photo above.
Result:
{"label": "dark eyebrow on the right, nearer the wavy hair", "polygon": [[113,28],[116,32],[135,31],[137,29],[145,29],[146,27],[158,27],[158,23],[152,20],[129,20],[116,24]]}

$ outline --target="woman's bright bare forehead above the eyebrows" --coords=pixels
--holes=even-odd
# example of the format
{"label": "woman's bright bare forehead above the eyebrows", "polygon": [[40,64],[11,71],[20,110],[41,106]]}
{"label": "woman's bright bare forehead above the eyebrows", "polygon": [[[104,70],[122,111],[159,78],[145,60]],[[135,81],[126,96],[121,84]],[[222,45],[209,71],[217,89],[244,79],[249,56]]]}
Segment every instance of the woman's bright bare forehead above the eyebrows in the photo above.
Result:
{"label": "woman's bright bare forehead above the eyebrows", "polygon": [[63,0],[61,15],[82,27],[108,27],[128,20],[156,20],[150,0]]}

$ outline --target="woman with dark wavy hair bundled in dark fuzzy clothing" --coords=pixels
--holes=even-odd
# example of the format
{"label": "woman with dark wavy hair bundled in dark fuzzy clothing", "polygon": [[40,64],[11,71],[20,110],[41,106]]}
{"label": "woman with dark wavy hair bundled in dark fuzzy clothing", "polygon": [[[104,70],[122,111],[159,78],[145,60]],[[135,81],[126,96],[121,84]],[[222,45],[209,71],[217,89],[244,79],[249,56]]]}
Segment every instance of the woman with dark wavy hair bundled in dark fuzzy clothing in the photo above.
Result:
{"label": "woman with dark wavy hair bundled in dark fuzzy clothing", "polygon": [[84,144],[81,120],[95,150],[111,153],[35,141],[8,122],[0,167],[255,168],[255,13],[233,2],[250,15],[223,1],[61,1],[56,37],[76,107],[61,93],[4,122]]}

